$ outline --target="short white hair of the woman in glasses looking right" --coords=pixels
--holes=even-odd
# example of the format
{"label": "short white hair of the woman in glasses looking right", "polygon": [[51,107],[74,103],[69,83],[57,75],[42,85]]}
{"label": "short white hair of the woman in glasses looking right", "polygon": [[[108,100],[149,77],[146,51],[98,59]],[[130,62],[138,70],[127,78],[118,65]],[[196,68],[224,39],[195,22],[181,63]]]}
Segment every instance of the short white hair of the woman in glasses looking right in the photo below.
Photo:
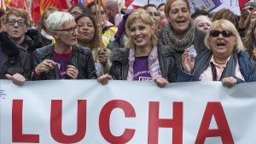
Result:
{"label": "short white hair of the woman in glasses looking right", "polygon": [[68,22],[74,20],[73,15],[67,12],[55,11],[49,14],[46,20],[46,29],[49,32],[54,32],[55,30],[61,30]]}

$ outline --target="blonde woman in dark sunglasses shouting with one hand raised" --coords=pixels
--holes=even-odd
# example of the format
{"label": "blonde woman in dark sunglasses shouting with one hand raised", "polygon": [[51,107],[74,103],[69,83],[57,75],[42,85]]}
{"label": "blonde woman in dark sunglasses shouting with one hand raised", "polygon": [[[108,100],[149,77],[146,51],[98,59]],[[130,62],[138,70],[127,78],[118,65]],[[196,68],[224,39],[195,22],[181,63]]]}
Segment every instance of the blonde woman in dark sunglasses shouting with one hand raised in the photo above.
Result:
{"label": "blonde woman in dark sunglasses shouting with one hand raised", "polygon": [[216,20],[205,37],[209,50],[195,58],[186,49],[177,81],[222,81],[226,87],[256,80],[255,62],[244,51],[241,37],[229,20]]}

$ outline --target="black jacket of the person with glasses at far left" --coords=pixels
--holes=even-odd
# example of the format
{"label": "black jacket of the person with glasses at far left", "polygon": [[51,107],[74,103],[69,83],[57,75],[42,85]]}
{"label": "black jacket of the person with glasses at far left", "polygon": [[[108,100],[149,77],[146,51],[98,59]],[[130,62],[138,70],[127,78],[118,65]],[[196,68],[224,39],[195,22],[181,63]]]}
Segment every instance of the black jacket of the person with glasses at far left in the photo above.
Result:
{"label": "black jacket of the person with glasses at far left", "polygon": [[0,33],[0,49],[3,51],[3,58],[0,62],[0,79],[5,79],[5,74],[14,75],[20,73],[26,79],[31,76],[30,56],[13,43],[6,32]]}

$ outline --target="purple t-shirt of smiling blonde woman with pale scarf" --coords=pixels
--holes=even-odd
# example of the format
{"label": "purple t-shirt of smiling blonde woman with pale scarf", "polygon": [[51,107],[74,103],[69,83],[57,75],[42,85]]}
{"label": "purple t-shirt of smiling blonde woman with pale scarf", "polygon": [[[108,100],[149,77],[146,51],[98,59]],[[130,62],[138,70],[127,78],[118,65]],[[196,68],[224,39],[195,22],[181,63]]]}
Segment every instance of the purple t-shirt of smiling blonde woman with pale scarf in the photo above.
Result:
{"label": "purple t-shirt of smiling blonde woman with pale scarf", "polygon": [[133,73],[133,80],[152,81],[151,74],[148,68],[148,56],[135,57],[133,63]]}

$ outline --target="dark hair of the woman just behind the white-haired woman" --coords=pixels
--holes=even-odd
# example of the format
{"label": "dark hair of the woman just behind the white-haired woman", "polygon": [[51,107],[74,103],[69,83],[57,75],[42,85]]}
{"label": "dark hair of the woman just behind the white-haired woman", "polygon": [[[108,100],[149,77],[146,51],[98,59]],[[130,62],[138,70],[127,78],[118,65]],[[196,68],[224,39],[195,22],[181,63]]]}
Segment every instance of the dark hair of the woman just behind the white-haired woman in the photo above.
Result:
{"label": "dark hair of the woman just behind the white-haired woman", "polygon": [[75,18],[75,21],[76,23],[78,23],[78,21],[84,17],[87,17],[89,18],[91,21],[92,21],[92,24],[94,26],[94,29],[95,29],[95,32],[94,32],[94,37],[92,38],[92,40],[90,41],[90,43],[88,43],[88,47],[90,49],[96,49],[96,48],[99,48],[100,45],[99,45],[99,41],[100,41],[100,37],[99,37],[99,29],[98,29],[98,26],[96,24],[96,20],[95,18],[92,16],[91,13],[87,13],[87,14],[79,14],[79,16],[77,16]]}

